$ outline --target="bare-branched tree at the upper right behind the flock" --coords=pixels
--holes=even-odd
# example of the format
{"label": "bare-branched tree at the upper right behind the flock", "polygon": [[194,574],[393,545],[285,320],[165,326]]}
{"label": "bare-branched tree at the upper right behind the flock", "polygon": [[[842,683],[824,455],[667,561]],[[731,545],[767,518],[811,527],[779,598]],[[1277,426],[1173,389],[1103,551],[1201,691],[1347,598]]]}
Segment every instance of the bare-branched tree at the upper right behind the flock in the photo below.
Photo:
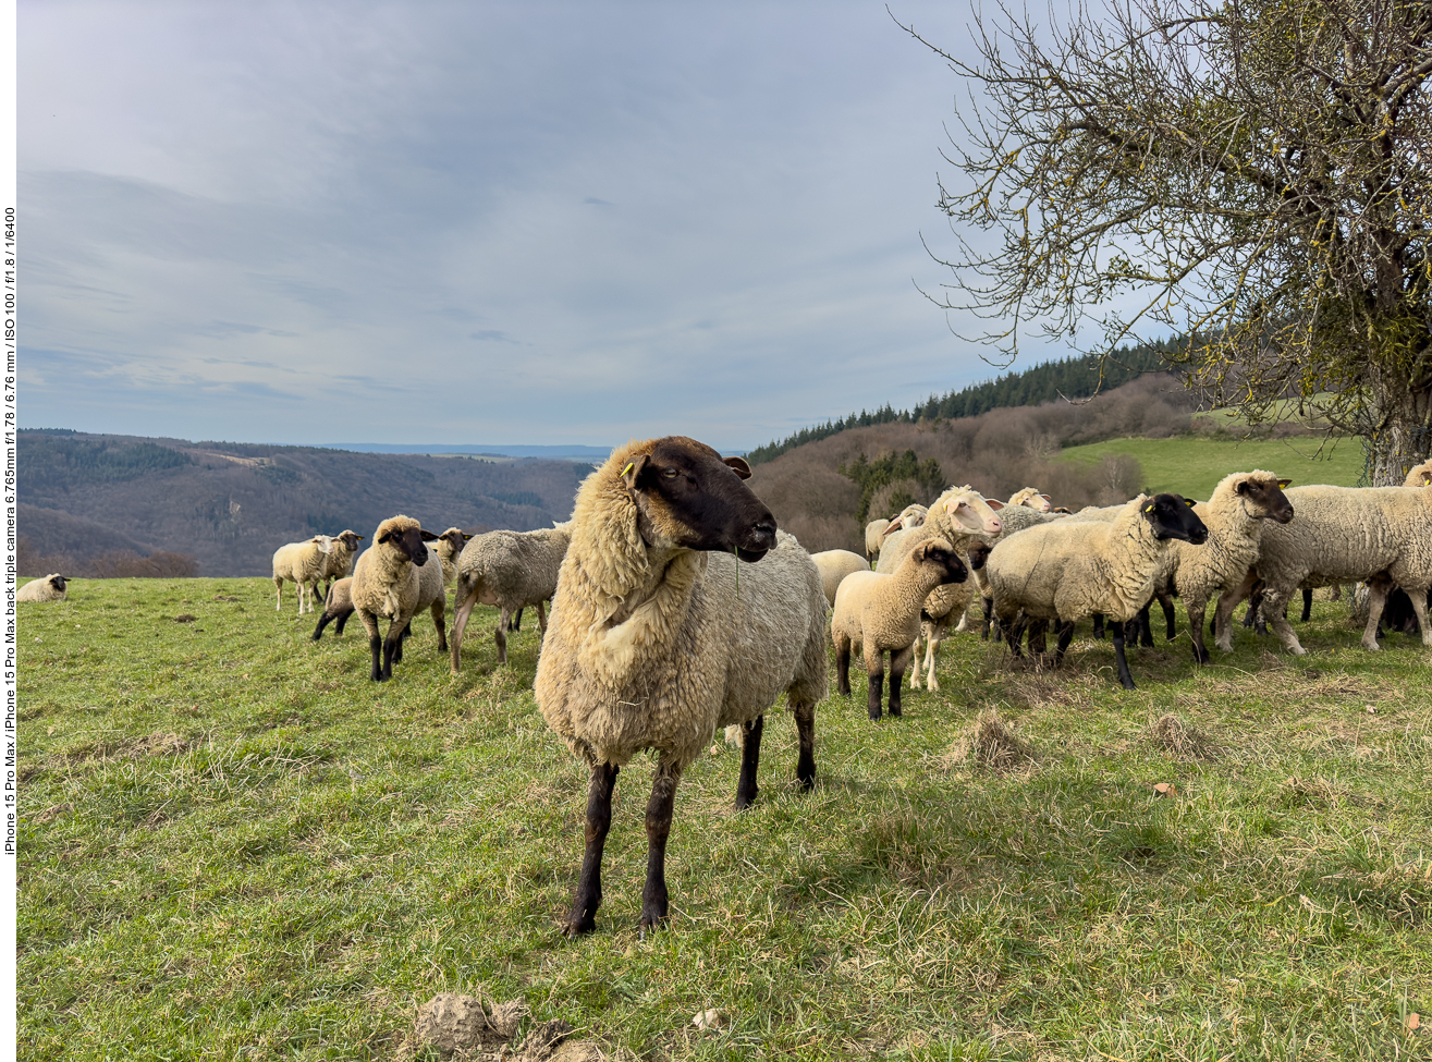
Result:
{"label": "bare-branched tree at the upper right behind the flock", "polygon": [[[912,27],[905,27],[916,36]],[[1111,0],[975,16],[935,300],[1104,350],[1193,337],[1186,380],[1250,421],[1326,417],[1373,483],[1432,451],[1432,4]]]}

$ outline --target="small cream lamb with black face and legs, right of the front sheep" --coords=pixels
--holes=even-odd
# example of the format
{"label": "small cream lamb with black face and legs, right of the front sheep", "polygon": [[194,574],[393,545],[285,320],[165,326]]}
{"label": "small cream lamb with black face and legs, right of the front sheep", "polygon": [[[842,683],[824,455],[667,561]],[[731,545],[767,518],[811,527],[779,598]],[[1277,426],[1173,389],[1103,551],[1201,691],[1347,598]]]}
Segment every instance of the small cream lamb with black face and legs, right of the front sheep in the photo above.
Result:
{"label": "small cream lamb with black face and legs, right of the front sheep", "polygon": [[879,719],[884,655],[889,652],[889,709],[891,715],[899,715],[899,684],[915,652],[925,598],[937,586],[962,583],[968,575],[955,547],[937,537],[927,539],[906,553],[894,575],[852,572],[845,576],[836,590],[835,615],[831,618],[836,688],[841,695],[851,695],[851,649],[861,646],[865,672],[869,675],[869,715],[871,719]]}

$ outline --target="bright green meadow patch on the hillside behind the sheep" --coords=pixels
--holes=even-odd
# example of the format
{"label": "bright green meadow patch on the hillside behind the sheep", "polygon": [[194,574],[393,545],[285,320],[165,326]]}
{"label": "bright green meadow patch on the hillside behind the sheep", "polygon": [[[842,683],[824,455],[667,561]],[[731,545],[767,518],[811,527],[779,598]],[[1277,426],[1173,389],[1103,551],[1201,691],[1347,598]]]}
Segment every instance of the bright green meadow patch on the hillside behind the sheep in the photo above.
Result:
{"label": "bright green meadow patch on the hillside behind the sheep", "polygon": [[1088,446],[1071,446],[1060,456],[1081,464],[1097,464],[1106,454],[1133,454],[1144,469],[1144,486],[1174,490],[1184,497],[1207,500],[1219,480],[1230,472],[1267,472],[1286,476],[1295,486],[1333,483],[1358,486],[1365,456],[1360,443],[1343,439],[1317,453],[1320,440],[1250,439],[1237,441],[1207,436],[1174,439],[1110,439]]}

